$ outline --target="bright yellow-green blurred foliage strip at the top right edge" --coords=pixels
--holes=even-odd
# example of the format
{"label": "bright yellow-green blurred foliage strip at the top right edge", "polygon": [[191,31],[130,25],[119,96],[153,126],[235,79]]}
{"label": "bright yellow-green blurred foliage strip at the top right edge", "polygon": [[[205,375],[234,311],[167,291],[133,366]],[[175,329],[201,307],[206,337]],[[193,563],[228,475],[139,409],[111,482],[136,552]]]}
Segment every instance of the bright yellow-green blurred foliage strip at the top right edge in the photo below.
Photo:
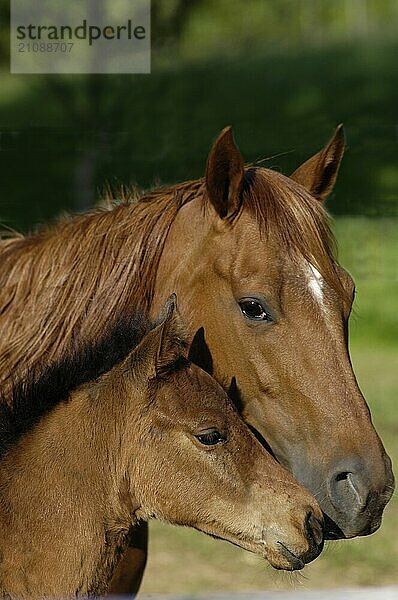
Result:
{"label": "bright yellow-green blurred foliage strip at the top right edge", "polygon": [[184,53],[294,48],[397,33],[396,0],[202,0],[183,30]]}

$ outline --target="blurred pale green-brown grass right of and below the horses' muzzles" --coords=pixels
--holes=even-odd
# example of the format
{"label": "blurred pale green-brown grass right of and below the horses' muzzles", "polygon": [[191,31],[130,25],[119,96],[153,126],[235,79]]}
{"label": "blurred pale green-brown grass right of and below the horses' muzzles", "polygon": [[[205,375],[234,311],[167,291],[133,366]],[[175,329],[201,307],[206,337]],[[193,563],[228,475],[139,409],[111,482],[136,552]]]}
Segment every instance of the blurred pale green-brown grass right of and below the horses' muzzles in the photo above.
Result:
{"label": "blurred pale green-brown grass right of and below the horses' muzzles", "polygon": [[[335,232],[340,262],[357,282],[351,355],[376,429],[398,464],[397,220],[341,218]],[[263,560],[195,531],[150,526],[145,593],[228,592],[398,584],[398,497],[370,537],[328,542],[300,574],[271,569]]]}

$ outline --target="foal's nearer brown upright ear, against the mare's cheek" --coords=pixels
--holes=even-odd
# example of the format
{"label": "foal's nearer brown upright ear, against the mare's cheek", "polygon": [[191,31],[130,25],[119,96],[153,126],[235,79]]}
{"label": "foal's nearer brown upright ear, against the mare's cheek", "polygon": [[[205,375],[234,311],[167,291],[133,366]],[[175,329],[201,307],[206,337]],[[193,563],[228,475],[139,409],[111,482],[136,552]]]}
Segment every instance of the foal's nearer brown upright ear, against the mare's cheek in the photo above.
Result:
{"label": "foal's nearer brown upright ear, against the mare's cheek", "polygon": [[184,326],[177,310],[177,296],[172,294],[159,316],[157,326],[159,339],[155,357],[156,375],[164,375],[175,367],[181,359],[186,359],[188,344],[184,335]]}

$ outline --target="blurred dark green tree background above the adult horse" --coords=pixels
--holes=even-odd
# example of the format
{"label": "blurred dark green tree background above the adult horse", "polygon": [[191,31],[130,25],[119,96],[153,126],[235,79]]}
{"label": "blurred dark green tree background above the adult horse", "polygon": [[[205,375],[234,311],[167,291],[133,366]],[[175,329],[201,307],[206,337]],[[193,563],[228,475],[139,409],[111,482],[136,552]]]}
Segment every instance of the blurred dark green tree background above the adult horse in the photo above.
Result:
{"label": "blurred dark green tree background above the adult horse", "polygon": [[[27,228],[84,209],[105,180],[199,177],[227,124],[246,160],[275,156],[265,164],[289,173],[341,121],[348,153],[332,211],[398,214],[395,0],[151,8],[151,75],[1,75],[1,221]],[[5,66],[5,0],[0,16]]]}

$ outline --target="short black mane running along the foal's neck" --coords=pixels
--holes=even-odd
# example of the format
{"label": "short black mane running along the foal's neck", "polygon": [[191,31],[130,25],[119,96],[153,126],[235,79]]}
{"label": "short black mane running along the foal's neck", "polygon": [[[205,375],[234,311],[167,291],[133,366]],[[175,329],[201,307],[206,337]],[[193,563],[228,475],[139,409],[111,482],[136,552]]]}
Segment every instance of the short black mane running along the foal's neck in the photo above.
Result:
{"label": "short black mane running along the foal's neck", "polygon": [[0,458],[71,392],[120,363],[153,328],[141,313],[119,315],[95,342],[78,343],[40,373],[30,372],[0,402]]}

